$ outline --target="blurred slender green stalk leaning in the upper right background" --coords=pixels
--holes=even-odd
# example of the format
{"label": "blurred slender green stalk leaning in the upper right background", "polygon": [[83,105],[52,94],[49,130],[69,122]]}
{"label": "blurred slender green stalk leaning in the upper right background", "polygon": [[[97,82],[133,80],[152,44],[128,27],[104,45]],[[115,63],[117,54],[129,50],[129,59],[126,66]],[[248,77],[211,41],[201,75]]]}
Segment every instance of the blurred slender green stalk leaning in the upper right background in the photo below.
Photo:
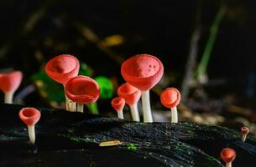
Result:
{"label": "blurred slender green stalk leaning in the upper right background", "polygon": [[208,63],[209,63],[209,60],[211,57],[211,53],[212,53],[212,49],[214,47],[214,43],[217,38],[218,29],[220,27],[220,23],[222,22],[222,19],[225,16],[225,13],[226,13],[226,8],[221,7],[218,10],[217,15],[212,23],[210,35],[206,42],[206,48],[204,49],[204,52],[201,57],[201,62],[199,63],[197,71],[196,71],[196,78],[202,78],[202,76],[204,76],[206,74],[206,68],[208,66]]}

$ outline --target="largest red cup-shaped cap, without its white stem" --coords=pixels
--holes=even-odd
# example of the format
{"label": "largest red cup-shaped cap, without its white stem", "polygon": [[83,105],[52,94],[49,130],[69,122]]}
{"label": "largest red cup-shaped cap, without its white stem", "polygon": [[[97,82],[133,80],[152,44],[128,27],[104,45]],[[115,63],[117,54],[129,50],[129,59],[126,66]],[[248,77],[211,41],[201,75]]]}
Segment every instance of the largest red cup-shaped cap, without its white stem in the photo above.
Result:
{"label": "largest red cup-shaped cap, without its white stem", "polygon": [[124,80],[142,91],[149,90],[159,83],[163,73],[163,63],[149,54],[138,54],[128,58],[121,67]]}

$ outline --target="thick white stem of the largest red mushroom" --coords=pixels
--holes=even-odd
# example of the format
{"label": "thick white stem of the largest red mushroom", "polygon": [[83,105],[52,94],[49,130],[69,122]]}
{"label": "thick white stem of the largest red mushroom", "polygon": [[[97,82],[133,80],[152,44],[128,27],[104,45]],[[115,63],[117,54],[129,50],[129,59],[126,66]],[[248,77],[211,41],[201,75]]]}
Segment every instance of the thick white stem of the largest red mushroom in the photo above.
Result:
{"label": "thick white stem of the largest red mushroom", "polygon": [[141,99],[142,99],[142,109],[144,114],[144,123],[152,123],[152,114],[150,108],[150,97],[149,97],[149,90],[141,92]]}

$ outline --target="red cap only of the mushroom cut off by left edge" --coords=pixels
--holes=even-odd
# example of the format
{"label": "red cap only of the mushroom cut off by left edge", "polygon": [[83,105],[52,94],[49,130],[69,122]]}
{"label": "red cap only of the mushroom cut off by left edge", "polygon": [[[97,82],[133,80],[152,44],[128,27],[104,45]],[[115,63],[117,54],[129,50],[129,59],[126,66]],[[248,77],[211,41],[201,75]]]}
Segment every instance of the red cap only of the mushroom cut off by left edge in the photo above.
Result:
{"label": "red cap only of the mushroom cut off by left edge", "polygon": [[20,71],[2,73],[0,76],[0,89],[4,93],[15,92],[18,89],[22,78],[23,75]]}

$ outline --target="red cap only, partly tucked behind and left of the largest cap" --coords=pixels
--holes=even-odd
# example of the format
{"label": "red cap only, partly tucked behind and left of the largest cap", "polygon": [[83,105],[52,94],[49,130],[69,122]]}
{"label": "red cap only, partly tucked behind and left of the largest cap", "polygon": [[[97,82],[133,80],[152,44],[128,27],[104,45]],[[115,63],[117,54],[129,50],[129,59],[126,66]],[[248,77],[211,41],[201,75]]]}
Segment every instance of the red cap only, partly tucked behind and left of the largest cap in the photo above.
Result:
{"label": "red cap only, partly tucked behind and left of the largest cap", "polygon": [[126,104],[133,105],[140,99],[141,92],[130,83],[123,83],[118,87],[118,96],[125,99]]}

